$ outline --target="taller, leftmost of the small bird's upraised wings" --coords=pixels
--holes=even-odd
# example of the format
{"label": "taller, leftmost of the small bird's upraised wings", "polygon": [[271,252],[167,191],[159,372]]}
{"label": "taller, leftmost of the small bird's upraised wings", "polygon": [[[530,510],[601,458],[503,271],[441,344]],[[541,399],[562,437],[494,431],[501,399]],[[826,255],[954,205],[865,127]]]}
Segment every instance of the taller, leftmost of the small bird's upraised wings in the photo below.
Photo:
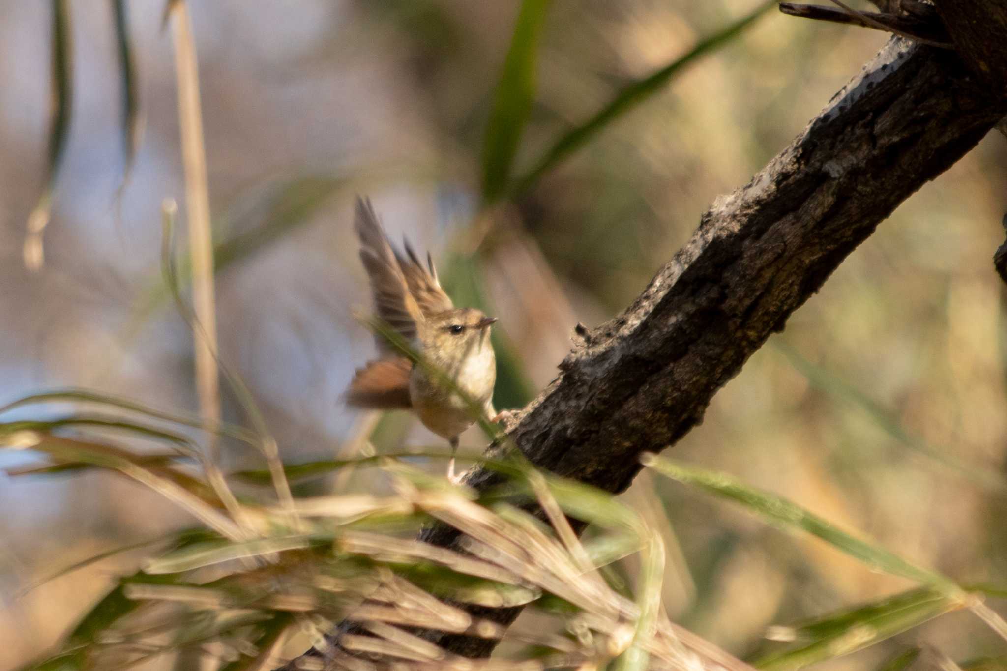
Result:
{"label": "taller, leftmost of the small bird's upraised wings", "polygon": [[[361,261],[371,279],[375,310],[403,338],[412,340],[416,337],[417,322],[424,319],[424,311],[413,296],[403,272],[403,261],[392,249],[368,198],[356,199],[355,227],[361,238]],[[385,337],[379,334],[376,340],[379,352],[394,353]]]}

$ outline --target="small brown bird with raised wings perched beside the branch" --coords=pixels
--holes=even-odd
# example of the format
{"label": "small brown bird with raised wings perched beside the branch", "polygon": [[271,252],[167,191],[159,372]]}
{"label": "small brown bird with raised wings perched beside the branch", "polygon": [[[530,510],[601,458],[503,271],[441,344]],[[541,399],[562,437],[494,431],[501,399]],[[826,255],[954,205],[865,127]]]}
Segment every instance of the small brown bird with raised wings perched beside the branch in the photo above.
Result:
{"label": "small brown bird with raised wings perched beside the branch", "polygon": [[[370,199],[356,199],[355,227],[378,317],[410,342],[440,374],[414,365],[378,334],[379,358],[356,371],[346,402],[357,407],[416,412],[427,429],[450,443],[448,477],[454,480],[458,436],[476,417],[452,383],[487,416],[495,415],[492,395],[496,357],[489,342],[489,326],[496,318],[472,308],[455,308],[441,289],[430,255],[424,268],[408,240],[404,241],[407,258],[394,249]],[[447,383],[445,377],[451,382]]]}

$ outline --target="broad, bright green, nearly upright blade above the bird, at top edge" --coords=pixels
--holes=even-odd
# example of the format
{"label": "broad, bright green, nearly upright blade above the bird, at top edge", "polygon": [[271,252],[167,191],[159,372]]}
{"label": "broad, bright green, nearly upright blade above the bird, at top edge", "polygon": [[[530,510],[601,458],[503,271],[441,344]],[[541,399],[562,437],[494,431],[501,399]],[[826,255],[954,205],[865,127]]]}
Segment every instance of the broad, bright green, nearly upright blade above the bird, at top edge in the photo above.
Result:
{"label": "broad, bright green, nearly upright blade above the bird, at top edge", "polygon": [[549,0],[524,0],[482,142],[482,199],[503,193],[518,143],[535,101],[539,36]]}

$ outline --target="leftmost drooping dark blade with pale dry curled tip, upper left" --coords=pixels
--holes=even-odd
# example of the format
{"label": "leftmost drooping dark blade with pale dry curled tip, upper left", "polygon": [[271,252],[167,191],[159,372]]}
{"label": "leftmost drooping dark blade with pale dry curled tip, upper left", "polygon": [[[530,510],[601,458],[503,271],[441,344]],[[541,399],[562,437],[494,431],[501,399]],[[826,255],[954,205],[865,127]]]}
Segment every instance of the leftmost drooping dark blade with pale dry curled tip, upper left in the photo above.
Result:
{"label": "leftmost drooping dark blade with pale dry curled tip, upper left", "polygon": [[45,186],[35,208],[28,215],[27,230],[24,236],[22,250],[24,266],[29,271],[38,271],[45,262],[42,244],[42,232],[49,223],[52,214],[52,192],[55,188],[56,175],[62,163],[63,152],[66,149],[66,139],[69,134],[70,110],[74,95],[74,43],[70,36],[70,19],[68,0],[51,0],[52,35],[51,35],[51,96],[49,125],[48,164],[46,166]]}

